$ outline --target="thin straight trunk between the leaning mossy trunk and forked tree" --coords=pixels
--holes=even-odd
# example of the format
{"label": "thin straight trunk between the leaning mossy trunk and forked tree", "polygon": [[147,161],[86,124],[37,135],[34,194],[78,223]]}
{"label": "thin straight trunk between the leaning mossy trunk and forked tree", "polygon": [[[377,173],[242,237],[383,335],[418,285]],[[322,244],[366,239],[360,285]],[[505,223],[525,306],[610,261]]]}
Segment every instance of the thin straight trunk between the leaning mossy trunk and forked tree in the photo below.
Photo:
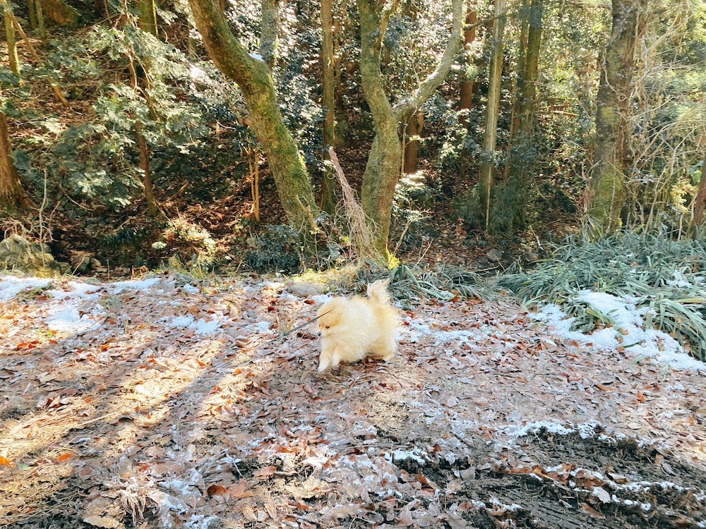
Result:
{"label": "thin straight trunk between the leaning mossy trunk and forked tree", "polygon": [[[323,120],[323,159],[330,162],[328,148],[336,147],[335,84],[333,55],[333,1],[321,1],[321,104]],[[336,208],[335,174],[333,166],[325,164],[321,178],[321,209],[331,214]]]}

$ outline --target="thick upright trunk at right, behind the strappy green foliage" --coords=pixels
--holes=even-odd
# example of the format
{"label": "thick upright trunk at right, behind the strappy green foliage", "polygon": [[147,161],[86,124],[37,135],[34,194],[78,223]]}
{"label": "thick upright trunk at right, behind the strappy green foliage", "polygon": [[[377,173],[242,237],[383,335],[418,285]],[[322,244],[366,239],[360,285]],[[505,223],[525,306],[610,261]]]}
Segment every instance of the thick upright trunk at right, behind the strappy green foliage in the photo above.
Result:
{"label": "thick upright trunk at right, behind the strappy green foliage", "polygon": [[635,46],[642,31],[641,2],[613,0],[611,37],[601,71],[588,217],[604,234],[613,233],[622,225]]}

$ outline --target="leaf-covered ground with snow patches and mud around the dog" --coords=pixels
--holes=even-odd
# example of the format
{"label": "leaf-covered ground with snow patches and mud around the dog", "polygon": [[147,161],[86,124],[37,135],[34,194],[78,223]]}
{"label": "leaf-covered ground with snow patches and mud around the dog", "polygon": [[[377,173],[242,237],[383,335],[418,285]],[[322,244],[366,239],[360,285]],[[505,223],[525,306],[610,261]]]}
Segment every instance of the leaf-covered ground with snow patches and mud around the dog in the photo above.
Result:
{"label": "leaf-covered ground with snow patches and mud around the dog", "polygon": [[706,528],[706,371],[511,298],[316,371],[284,281],[0,276],[0,525]]}

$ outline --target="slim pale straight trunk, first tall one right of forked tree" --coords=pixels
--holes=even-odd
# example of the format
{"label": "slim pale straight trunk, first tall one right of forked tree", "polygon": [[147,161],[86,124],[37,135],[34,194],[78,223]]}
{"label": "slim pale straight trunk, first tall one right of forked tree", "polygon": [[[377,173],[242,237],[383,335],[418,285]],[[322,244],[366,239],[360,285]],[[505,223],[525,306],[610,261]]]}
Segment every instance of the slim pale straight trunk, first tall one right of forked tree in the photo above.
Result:
{"label": "slim pale straight trunk, first tall one right of forked tree", "polygon": [[493,202],[493,180],[495,178],[495,147],[498,137],[498,114],[500,114],[500,89],[503,81],[503,32],[505,31],[505,0],[495,1],[493,21],[492,56],[488,80],[488,102],[486,106],[486,130],[483,135],[481,171],[478,183],[479,217],[488,230],[491,204]]}

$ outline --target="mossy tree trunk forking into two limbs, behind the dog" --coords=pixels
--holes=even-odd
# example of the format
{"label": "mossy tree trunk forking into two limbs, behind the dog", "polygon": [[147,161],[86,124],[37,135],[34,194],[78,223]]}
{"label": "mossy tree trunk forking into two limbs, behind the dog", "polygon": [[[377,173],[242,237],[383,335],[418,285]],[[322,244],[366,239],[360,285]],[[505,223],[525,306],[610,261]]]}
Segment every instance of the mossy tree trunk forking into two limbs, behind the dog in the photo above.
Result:
{"label": "mossy tree trunk forking into two limbs, behind the dog", "polygon": [[370,107],[375,138],[363,175],[361,205],[373,233],[373,255],[388,262],[388,236],[392,217],[395,186],[402,171],[402,140],[400,123],[405,123],[419,110],[431,93],[443,83],[457,56],[462,42],[463,1],[453,0],[453,28],[443,56],[435,70],[394,107],[383,86],[381,71],[382,42],[390,16],[400,4],[393,1],[381,5],[376,0],[358,0],[360,19],[360,72],[366,102]]}

